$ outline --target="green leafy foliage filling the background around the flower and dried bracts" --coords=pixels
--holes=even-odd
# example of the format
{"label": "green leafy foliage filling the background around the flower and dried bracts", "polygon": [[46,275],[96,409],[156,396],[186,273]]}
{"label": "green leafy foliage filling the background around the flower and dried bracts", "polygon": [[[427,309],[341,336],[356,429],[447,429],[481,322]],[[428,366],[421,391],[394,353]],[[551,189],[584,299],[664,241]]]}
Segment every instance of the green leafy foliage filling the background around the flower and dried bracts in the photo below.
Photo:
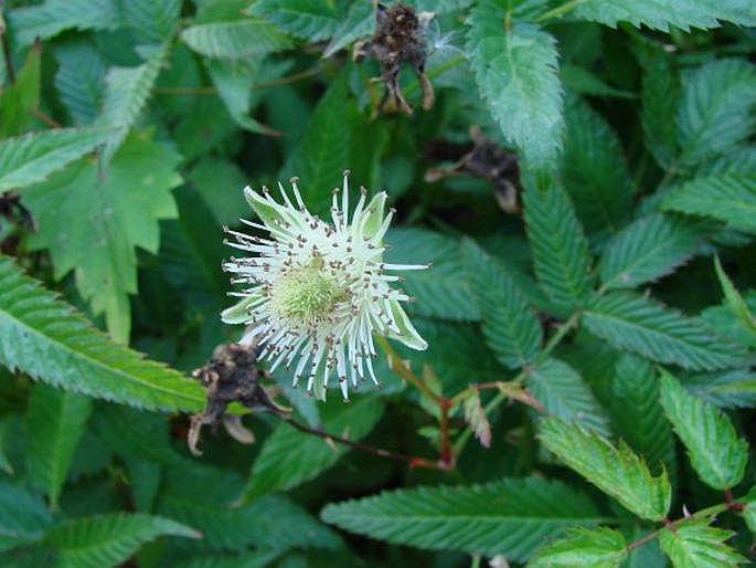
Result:
{"label": "green leafy foliage filling the background around the flower and dried bracts", "polygon": [[[1,566],[756,559],[756,3],[408,3],[436,104],[403,73],[397,115],[351,60],[369,0],[0,2]],[[515,209],[427,175],[473,126]],[[275,380],[417,466],[266,414],[193,457],[242,188],[322,212],[344,169],[397,208],[390,260],[434,263],[429,348],[351,404]]]}

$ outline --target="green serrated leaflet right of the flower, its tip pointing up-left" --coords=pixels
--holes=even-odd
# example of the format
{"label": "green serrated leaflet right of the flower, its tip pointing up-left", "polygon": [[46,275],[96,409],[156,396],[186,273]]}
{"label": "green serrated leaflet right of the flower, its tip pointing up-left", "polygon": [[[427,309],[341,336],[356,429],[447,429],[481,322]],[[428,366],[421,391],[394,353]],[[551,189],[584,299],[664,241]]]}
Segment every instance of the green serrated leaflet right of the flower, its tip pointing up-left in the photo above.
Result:
{"label": "green serrated leaflet right of the flower, its tip pointing up-left", "polygon": [[543,329],[518,285],[473,241],[462,243],[461,256],[472,280],[488,345],[511,369],[533,362],[543,343]]}

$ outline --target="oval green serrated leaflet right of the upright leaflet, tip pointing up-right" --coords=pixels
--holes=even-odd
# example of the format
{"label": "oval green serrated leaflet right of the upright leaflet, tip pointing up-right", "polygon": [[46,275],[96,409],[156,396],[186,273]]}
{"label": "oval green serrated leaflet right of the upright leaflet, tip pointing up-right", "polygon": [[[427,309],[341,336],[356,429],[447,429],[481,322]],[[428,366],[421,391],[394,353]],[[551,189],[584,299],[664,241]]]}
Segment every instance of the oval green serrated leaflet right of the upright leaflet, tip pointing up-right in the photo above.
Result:
{"label": "oval green serrated leaflet right of the upright leaflet, tip pointing up-right", "polygon": [[598,265],[604,290],[635,288],[685,263],[702,246],[710,225],[651,213],[609,243]]}

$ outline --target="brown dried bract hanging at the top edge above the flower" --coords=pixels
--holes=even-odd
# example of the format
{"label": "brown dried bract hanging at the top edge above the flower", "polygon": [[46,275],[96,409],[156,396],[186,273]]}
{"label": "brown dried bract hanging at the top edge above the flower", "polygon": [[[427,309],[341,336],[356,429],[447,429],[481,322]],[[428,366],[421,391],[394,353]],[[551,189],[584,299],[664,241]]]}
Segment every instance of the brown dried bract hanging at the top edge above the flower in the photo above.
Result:
{"label": "brown dried bract hanging at the top edge above the flower", "polygon": [[375,57],[381,64],[381,78],[386,90],[379,103],[379,111],[383,109],[391,98],[395,107],[403,113],[412,113],[412,106],[404,98],[400,86],[402,63],[408,63],[415,71],[423,90],[423,108],[432,108],[435,102],[433,85],[425,76],[425,60],[428,46],[425,32],[428,23],[435,18],[433,12],[420,12],[406,4],[391,8],[373,0],[375,10],[375,33],[370,40],[354,43],[353,59],[358,63],[364,57]]}

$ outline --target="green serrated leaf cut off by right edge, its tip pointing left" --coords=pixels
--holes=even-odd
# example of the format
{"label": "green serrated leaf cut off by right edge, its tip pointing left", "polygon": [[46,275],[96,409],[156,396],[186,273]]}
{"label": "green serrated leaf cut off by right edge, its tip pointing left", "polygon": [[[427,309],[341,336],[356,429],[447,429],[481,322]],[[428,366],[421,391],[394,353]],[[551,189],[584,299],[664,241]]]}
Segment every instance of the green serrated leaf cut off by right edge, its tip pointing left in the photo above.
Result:
{"label": "green serrated leaf cut off by right edge, its tip pointing left", "polygon": [[713,173],[674,189],[661,202],[663,209],[713,217],[728,227],[756,232],[756,176]]}

